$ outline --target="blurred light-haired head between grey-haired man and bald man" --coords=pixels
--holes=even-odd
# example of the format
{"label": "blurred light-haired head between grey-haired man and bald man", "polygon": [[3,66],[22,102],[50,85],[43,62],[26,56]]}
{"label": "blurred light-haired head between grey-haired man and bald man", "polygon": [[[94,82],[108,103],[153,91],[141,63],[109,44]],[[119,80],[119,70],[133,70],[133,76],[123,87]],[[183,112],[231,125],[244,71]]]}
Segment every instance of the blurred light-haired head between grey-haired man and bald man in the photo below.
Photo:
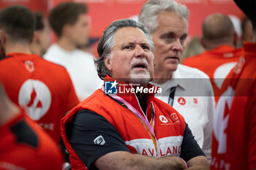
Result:
{"label": "blurred light-haired head between grey-haired man and bald man", "polygon": [[205,48],[201,44],[201,38],[198,36],[193,37],[186,45],[185,50],[181,55],[180,63],[183,63],[186,58],[203,53],[203,51],[205,51]]}

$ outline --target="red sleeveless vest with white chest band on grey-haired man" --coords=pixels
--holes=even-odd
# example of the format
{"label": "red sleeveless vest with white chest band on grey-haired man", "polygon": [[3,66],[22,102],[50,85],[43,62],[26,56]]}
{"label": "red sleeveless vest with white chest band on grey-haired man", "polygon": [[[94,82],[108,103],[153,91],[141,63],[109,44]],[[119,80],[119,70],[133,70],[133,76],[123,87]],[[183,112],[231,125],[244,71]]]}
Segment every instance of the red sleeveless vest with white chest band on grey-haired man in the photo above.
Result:
{"label": "red sleeveless vest with white chest band on grey-haired man", "polygon": [[[110,77],[107,78],[110,79]],[[142,117],[146,117],[140,109],[135,94],[126,93],[121,98],[137,109]],[[61,136],[69,152],[72,169],[85,169],[85,165],[72,149],[67,138],[65,125],[72,122],[76,112],[82,109],[89,109],[105,117],[121,134],[130,152],[156,158],[168,155],[179,156],[186,127],[184,118],[173,107],[154,96],[147,96],[147,104],[147,112],[154,112],[151,127],[143,122],[141,116],[118,104],[102,90],[96,90],[89,98],[72,109],[61,120]]]}

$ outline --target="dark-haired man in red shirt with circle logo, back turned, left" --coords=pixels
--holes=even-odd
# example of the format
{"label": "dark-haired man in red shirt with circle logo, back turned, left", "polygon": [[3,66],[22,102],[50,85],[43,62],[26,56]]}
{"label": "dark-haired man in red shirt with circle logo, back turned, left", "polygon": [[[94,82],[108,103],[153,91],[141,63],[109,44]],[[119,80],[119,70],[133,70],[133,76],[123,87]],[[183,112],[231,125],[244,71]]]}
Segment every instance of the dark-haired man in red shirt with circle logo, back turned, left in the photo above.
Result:
{"label": "dark-haired man in red shirt with circle logo, back turned, left", "polygon": [[35,22],[26,7],[1,9],[0,46],[6,56],[0,61],[0,79],[10,99],[59,144],[59,121],[79,100],[63,66],[31,54]]}

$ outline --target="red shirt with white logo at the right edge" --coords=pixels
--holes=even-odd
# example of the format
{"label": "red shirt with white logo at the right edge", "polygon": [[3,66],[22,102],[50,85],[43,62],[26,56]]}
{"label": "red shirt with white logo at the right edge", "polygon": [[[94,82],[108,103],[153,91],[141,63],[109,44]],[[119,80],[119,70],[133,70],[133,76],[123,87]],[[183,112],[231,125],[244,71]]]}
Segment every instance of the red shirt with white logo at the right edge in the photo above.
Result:
{"label": "red shirt with white logo at the right edge", "polygon": [[211,170],[256,169],[256,44],[244,43],[227,78],[214,117]]}

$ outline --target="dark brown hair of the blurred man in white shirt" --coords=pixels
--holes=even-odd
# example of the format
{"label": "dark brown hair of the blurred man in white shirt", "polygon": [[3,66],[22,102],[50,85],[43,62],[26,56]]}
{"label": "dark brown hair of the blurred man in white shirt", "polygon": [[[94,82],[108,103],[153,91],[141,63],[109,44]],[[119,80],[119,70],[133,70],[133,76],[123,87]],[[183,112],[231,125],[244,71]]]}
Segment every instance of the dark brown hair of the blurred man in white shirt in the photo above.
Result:
{"label": "dark brown hair of the blurred man in white shirt", "polygon": [[86,4],[75,2],[62,2],[54,7],[49,15],[49,23],[58,36],[66,24],[73,25],[77,22],[79,15],[87,12]]}

